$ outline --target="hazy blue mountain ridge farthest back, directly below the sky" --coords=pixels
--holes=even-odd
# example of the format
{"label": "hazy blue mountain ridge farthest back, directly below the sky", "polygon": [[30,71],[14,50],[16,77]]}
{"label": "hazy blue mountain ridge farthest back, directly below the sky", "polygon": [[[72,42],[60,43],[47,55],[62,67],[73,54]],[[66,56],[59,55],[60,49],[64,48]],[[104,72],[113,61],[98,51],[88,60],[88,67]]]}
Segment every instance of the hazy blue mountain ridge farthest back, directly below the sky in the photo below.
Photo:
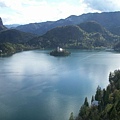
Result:
{"label": "hazy blue mountain ridge farthest back, directly below the sky", "polygon": [[[71,15],[66,19],[47,21],[41,23],[30,23],[16,27],[17,30],[42,35],[47,31],[66,25],[75,25],[88,21],[96,21],[114,34],[120,35],[120,12],[87,13],[80,16]],[[116,30],[117,29],[117,30]]]}

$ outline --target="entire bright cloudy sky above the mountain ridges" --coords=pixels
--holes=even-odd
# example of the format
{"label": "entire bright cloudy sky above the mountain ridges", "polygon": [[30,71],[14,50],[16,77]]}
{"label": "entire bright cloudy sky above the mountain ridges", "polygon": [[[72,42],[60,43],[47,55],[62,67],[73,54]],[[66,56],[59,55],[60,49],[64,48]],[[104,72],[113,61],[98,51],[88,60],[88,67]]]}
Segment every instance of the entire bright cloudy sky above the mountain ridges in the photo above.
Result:
{"label": "entire bright cloudy sky above the mountain ridges", "polygon": [[70,15],[120,11],[119,0],[0,0],[4,25],[65,19]]}

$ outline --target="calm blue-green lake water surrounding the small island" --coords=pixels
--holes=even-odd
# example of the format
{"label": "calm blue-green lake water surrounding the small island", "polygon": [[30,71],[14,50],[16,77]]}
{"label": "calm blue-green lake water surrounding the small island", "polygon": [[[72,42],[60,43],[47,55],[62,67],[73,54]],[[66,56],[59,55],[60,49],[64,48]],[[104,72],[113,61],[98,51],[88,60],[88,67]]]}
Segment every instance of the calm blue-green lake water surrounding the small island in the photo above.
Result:
{"label": "calm blue-green lake water surrounding the small island", "polygon": [[68,120],[120,68],[115,52],[72,50],[68,57],[49,52],[0,58],[0,120]]}

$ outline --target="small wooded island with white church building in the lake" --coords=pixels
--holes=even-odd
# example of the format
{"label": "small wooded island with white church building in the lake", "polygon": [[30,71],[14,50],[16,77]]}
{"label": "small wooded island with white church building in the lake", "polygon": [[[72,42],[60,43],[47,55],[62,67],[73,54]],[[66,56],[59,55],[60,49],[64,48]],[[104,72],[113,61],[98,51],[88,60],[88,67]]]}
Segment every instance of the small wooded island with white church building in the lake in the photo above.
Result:
{"label": "small wooded island with white church building in the lake", "polygon": [[71,53],[65,49],[62,49],[60,47],[57,47],[57,49],[50,52],[50,55],[52,56],[68,56]]}

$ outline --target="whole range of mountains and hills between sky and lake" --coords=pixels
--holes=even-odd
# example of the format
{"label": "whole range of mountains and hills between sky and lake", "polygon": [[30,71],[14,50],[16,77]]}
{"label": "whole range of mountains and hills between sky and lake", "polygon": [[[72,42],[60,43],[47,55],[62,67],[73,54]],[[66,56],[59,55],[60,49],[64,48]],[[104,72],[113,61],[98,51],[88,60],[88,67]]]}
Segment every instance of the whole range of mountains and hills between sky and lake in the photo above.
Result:
{"label": "whole range of mountains and hills between sky and lake", "polygon": [[70,16],[58,21],[31,23],[7,29],[0,19],[0,49],[6,49],[7,46],[5,51],[15,52],[18,44],[21,44],[22,47],[19,46],[19,50],[24,50],[24,48],[46,49],[57,46],[78,49],[115,48],[119,50],[119,21],[120,12],[88,13]]}

